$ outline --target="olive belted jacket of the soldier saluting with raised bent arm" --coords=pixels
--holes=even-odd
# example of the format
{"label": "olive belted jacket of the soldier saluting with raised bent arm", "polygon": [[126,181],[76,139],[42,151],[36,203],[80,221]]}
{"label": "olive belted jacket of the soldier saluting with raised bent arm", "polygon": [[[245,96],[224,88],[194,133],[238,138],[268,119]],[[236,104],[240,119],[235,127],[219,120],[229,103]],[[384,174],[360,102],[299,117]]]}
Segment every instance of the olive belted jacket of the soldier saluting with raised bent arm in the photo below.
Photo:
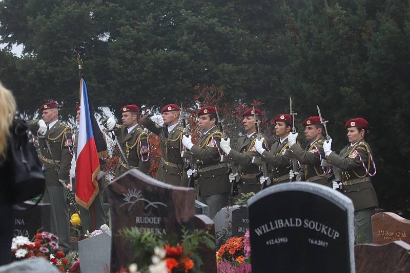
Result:
{"label": "olive belted jacket of the soldier saluting with raised bent arm", "polygon": [[[181,157],[182,136],[186,133],[186,129],[178,123],[168,132],[167,127],[157,128],[149,117],[142,118],[140,123],[159,137],[161,161],[155,179],[174,186],[186,187],[188,184],[188,176],[185,172],[187,166]],[[168,138],[164,130],[167,130]]]}

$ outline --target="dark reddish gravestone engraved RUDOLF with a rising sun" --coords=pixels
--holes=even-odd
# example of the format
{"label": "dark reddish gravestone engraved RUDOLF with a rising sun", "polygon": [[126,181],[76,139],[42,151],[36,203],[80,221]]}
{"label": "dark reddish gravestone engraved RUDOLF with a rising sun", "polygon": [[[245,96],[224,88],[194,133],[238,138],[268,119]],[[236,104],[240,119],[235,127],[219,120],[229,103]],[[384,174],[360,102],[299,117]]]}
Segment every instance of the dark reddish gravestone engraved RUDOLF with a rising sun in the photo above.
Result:
{"label": "dark reddish gravestone engraved RUDOLF with a rising sun", "polygon": [[[117,236],[126,227],[155,234],[177,235],[183,225],[192,227],[196,191],[162,183],[130,170],[107,186],[112,219],[111,271],[128,266],[134,253]],[[191,225],[191,226],[190,226]]]}

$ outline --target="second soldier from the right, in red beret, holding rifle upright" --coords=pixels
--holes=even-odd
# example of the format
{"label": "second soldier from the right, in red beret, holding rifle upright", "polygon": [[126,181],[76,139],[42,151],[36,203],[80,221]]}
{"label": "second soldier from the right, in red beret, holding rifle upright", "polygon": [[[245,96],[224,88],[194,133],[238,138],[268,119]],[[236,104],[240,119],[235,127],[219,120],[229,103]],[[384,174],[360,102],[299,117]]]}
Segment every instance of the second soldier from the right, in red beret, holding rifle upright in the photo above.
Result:
{"label": "second soldier from the right, in red beret, holding rifle upright", "polygon": [[299,172],[294,170],[289,172],[290,179],[292,180],[296,175],[297,181],[303,180],[332,187],[331,181],[327,179],[330,175],[327,175],[326,169],[320,166],[322,159],[325,159],[323,151],[325,138],[320,118],[309,117],[303,122],[303,126],[305,127],[306,140],[309,142],[304,150],[296,144],[298,133],[290,133],[288,136],[290,149],[285,154],[289,157],[295,157],[302,164]]}

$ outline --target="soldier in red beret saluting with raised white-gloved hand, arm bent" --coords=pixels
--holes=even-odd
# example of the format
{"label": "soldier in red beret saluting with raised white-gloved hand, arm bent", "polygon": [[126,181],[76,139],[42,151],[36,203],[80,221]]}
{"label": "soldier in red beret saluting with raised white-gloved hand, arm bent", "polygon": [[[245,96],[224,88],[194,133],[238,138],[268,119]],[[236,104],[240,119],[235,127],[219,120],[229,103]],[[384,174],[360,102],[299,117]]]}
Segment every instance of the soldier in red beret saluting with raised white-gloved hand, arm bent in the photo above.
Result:
{"label": "soldier in red beret saluting with raised white-gloved hand, arm bent", "polygon": [[182,135],[186,129],[178,122],[179,111],[178,105],[168,104],[161,109],[161,115],[144,117],[140,123],[158,135],[160,140],[161,161],[155,178],[167,184],[186,187],[188,177],[181,157]]}

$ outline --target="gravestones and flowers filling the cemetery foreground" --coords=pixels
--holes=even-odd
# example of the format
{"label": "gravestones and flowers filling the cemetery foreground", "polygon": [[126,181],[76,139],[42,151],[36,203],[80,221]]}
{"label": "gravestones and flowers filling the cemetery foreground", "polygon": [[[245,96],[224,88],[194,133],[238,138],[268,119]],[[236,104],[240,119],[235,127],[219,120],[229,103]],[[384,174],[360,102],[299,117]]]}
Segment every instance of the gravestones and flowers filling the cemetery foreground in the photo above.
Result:
{"label": "gravestones and flowers filling the cemetery foreground", "polygon": [[15,261],[0,273],[410,271],[410,221],[377,213],[373,243],[355,245],[353,203],[331,188],[276,185],[231,200],[214,219],[195,198],[195,189],[129,171],[108,185],[99,230],[83,234],[71,213],[67,255],[48,232],[49,204],[16,211]]}

